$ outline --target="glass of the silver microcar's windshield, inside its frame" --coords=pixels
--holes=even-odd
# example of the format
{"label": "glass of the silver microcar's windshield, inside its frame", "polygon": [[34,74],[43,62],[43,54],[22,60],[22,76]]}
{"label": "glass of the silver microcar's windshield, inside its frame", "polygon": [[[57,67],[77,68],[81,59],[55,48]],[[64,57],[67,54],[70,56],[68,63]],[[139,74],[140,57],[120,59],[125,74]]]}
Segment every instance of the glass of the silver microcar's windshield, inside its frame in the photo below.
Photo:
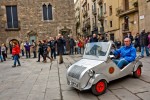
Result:
{"label": "glass of the silver microcar's windshield, inside its frame", "polygon": [[109,46],[110,46],[110,42],[87,43],[84,56],[88,56],[89,58],[105,57]]}

